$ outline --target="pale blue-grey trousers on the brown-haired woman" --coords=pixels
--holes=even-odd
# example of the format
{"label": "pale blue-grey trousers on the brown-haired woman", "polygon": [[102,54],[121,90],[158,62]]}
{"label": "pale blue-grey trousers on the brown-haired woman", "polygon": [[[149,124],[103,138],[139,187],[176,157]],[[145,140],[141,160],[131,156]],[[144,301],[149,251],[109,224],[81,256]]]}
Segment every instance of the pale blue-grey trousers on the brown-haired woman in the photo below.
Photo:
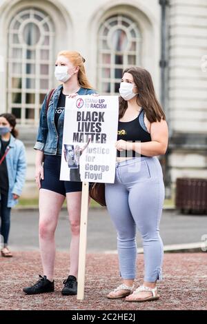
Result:
{"label": "pale blue-grey trousers on the brown-haired woman", "polygon": [[159,222],[163,203],[164,181],[157,157],[141,156],[117,162],[115,183],[106,183],[106,205],[117,230],[123,279],[135,279],[137,227],[144,247],[144,281],[161,281],[164,254]]}

